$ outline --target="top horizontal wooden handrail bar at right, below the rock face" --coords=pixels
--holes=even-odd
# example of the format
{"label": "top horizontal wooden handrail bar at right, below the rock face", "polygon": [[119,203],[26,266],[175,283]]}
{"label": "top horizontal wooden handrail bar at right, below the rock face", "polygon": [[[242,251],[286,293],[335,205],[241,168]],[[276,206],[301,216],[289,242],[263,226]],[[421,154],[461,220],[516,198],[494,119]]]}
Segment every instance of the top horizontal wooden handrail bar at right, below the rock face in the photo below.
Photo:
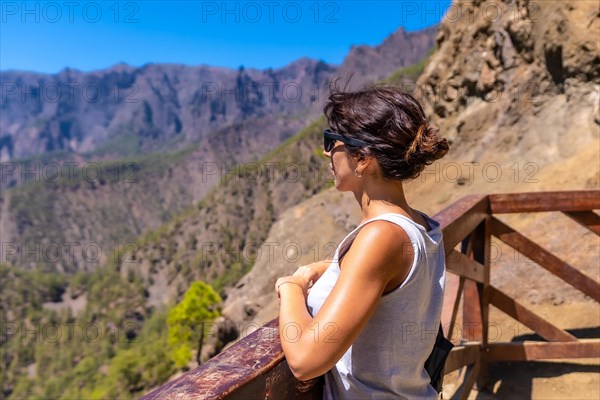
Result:
{"label": "top horizontal wooden handrail bar at right, below the rock face", "polygon": [[492,214],[600,209],[600,190],[490,194]]}

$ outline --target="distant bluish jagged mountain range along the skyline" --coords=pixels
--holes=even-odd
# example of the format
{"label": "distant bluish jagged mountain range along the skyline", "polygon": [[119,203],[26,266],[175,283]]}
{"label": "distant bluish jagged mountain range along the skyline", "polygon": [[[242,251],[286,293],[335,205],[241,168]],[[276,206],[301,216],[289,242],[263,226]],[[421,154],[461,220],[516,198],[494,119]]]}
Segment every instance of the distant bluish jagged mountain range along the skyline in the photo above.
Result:
{"label": "distant bluish jagged mountain range along the skyline", "polygon": [[[354,75],[357,84],[381,79],[422,59],[435,33],[399,29],[379,46],[353,47],[341,66],[301,58],[266,70],[119,64],[54,75],[4,71],[0,161],[55,151],[107,159],[174,150],[235,124],[252,141],[281,143],[318,113],[334,76]],[[280,126],[282,117],[301,122]]]}

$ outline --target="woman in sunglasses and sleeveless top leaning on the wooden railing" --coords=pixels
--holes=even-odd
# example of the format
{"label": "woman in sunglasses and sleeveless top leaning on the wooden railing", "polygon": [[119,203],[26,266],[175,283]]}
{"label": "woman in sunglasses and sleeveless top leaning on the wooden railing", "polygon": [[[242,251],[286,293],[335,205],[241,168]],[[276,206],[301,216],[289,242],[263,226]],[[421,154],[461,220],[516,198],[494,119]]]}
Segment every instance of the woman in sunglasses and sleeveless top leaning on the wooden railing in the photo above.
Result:
{"label": "woman in sunglasses and sleeveless top leaning on the wooden railing", "polygon": [[287,362],[301,381],[326,374],[326,399],[437,398],[423,365],[440,324],[442,233],[402,183],[448,144],[394,87],[336,91],[324,113],[335,187],[354,193],[362,221],[330,263],[277,280]]}

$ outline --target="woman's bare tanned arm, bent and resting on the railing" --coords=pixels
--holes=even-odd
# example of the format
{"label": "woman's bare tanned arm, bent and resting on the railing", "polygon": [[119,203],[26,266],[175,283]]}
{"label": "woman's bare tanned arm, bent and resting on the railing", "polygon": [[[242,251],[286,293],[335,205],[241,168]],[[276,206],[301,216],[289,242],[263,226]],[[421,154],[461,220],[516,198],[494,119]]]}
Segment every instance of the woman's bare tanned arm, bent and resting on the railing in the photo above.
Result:
{"label": "woman's bare tanned arm, bent and resting on the railing", "polygon": [[[356,340],[375,311],[387,284],[398,274],[406,276],[410,263],[401,257],[410,239],[385,221],[368,224],[344,258],[337,283],[319,313],[311,317],[306,293],[316,271],[300,267],[291,277],[277,281],[280,294],[281,345],[299,380],[309,380],[330,370]],[[368,251],[365,251],[368,249]]]}

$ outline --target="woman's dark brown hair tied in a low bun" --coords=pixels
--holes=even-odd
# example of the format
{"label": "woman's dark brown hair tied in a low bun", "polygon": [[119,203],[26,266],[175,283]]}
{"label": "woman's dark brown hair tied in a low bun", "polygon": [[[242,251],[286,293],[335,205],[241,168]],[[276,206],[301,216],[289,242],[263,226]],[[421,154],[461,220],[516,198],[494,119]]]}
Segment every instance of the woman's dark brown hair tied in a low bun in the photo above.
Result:
{"label": "woman's dark brown hair tied in a low bun", "polygon": [[374,157],[386,179],[414,179],[449,149],[419,102],[393,86],[344,92],[334,85],[323,112],[331,130],[369,143],[345,149],[352,156]]}

